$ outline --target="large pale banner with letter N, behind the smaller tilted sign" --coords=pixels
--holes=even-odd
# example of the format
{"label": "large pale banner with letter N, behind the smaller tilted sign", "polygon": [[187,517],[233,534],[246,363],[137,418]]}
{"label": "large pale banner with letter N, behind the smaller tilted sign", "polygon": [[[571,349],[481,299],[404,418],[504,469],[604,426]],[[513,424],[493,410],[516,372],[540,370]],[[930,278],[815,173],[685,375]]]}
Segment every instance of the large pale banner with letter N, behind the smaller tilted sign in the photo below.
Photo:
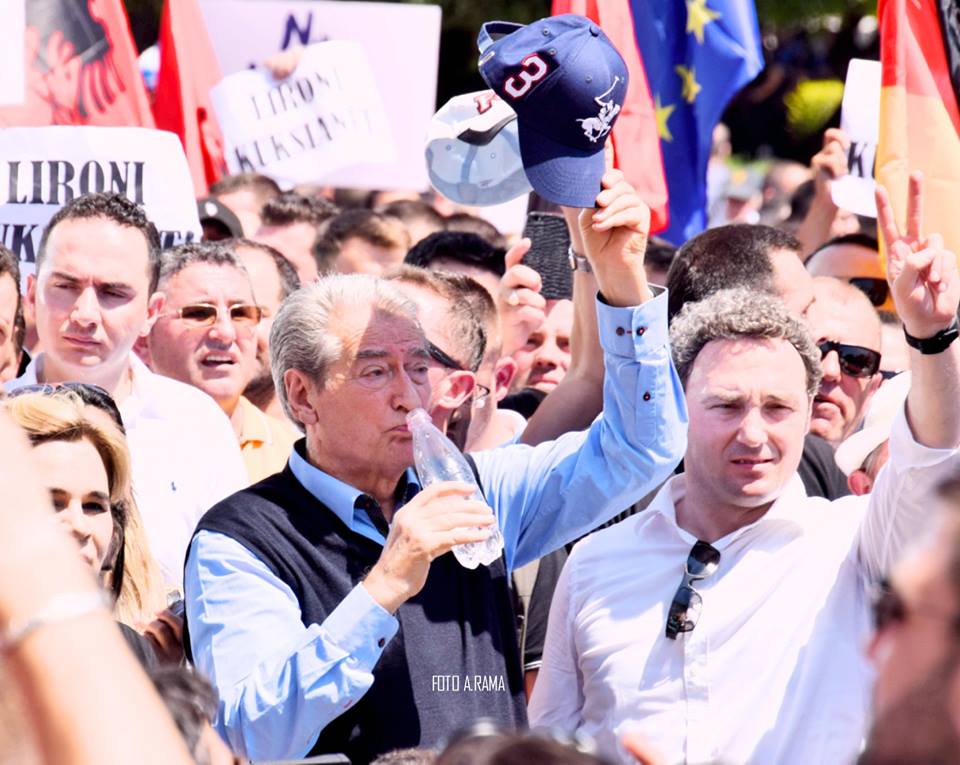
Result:
{"label": "large pale banner with letter N, behind the smaller tilted sign", "polygon": [[[429,187],[423,146],[436,110],[440,8],[323,0],[201,0],[226,74],[293,45],[351,40],[366,54],[383,99],[396,159],[334,171],[325,183],[356,188]],[[319,179],[315,179],[319,180]]]}

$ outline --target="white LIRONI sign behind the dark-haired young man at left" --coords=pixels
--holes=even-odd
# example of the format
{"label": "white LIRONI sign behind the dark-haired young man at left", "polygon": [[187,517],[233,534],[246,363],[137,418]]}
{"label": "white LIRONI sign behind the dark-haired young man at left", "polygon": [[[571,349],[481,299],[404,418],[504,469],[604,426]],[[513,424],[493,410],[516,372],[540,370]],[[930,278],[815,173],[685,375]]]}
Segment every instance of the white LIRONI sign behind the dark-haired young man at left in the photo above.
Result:
{"label": "white LIRONI sign behind the dark-haired young man at left", "polygon": [[164,247],[199,240],[190,170],[173,133],[147,128],[0,130],[0,242],[34,271],[47,221],[70,200],[114,191],[143,205]]}

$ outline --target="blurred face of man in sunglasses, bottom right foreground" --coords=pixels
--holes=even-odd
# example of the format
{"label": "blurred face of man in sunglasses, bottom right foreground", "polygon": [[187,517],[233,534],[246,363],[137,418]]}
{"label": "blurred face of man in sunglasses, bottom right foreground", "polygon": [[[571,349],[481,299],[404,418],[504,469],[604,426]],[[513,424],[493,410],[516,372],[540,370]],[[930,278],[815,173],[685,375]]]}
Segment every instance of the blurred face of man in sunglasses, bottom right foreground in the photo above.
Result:
{"label": "blurred face of man in sunglasses, bottom right foreground", "polygon": [[928,535],[874,593],[873,723],[858,765],[960,756],[960,481],[930,499]]}

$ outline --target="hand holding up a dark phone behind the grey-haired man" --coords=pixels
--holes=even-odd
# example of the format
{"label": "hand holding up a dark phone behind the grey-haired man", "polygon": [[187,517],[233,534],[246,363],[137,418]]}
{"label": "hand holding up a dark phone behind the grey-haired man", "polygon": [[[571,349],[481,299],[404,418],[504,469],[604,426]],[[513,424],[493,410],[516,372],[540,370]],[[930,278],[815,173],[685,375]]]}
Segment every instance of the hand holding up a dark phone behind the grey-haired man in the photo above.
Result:
{"label": "hand holding up a dark phone behind the grey-haired man", "polygon": [[510,356],[527,342],[546,321],[547,301],[540,294],[540,274],[523,264],[530,250],[530,240],[521,239],[504,256],[506,272],[500,278],[497,292],[497,313],[503,355]]}

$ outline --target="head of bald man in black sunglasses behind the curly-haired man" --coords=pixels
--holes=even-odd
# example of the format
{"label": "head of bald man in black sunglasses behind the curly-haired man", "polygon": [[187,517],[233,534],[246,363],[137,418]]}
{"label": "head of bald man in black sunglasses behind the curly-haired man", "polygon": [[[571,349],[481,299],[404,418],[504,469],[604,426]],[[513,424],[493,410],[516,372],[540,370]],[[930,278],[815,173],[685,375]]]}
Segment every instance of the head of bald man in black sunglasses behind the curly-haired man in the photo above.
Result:
{"label": "head of bald man in black sunglasses behind the curly-haired man", "polygon": [[869,298],[841,279],[814,281],[807,316],[823,356],[823,381],[813,402],[810,432],[834,447],[853,433],[880,386],[880,319]]}

